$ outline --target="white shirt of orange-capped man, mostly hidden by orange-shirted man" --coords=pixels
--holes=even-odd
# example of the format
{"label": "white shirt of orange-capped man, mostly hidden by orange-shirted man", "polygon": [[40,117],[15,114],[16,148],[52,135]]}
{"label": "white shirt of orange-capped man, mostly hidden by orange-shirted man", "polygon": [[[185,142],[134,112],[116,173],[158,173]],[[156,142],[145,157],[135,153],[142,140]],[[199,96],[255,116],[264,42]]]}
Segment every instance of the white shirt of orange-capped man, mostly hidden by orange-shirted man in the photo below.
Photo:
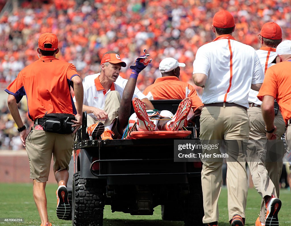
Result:
{"label": "white shirt of orange-capped man, mostly hidden by orange-shirted man", "polygon": [[[267,68],[269,68],[275,64],[272,62],[274,60],[276,60],[276,57],[278,56],[276,54],[276,49],[263,46],[260,49],[258,49],[256,51],[256,53],[258,54],[258,57],[260,59],[261,65],[262,65],[262,69],[264,70],[264,74],[265,74],[267,71]],[[262,104],[262,101],[260,101],[257,97],[258,93],[259,93],[258,91],[255,91],[252,89],[250,90],[250,93],[249,93],[249,102],[250,103],[255,103],[258,105]]]}

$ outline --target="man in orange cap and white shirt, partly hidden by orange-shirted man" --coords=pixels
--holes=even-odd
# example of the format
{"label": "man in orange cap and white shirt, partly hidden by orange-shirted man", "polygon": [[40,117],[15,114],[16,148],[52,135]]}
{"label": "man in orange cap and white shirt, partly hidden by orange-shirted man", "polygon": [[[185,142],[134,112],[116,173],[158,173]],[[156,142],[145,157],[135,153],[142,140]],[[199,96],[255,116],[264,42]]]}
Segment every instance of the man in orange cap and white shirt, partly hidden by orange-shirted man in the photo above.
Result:
{"label": "man in orange cap and white shirt, partly hidden by orange-shirted man", "polygon": [[[282,41],[282,30],[280,26],[274,22],[267,22],[262,26],[260,32],[261,48],[256,51],[264,72],[267,68],[276,63],[276,47]],[[250,167],[253,184],[262,196],[260,217],[257,218],[255,225],[265,225],[266,218],[266,203],[270,200],[271,196],[279,197],[280,187],[279,179],[282,172],[283,161],[281,159],[265,159],[268,152],[280,152],[283,157],[285,152],[281,136],[285,133],[285,122],[281,115],[281,111],[277,109],[277,114],[274,118],[274,124],[277,127],[276,143],[277,150],[268,150],[266,152],[266,131],[265,123],[262,116],[261,104],[258,99],[258,91],[250,90],[249,92],[249,109],[248,115],[251,123],[250,138],[248,145],[248,164]],[[274,146],[275,147],[275,146]]]}

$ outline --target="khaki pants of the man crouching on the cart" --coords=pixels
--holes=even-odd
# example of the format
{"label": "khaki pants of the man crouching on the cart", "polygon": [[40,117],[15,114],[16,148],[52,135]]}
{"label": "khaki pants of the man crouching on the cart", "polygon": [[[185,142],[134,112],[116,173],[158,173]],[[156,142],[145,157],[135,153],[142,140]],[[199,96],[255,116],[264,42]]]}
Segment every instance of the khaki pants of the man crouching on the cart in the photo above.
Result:
{"label": "khaki pants of the man crouching on the cart", "polygon": [[[117,130],[117,117],[118,117],[118,111],[120,106],[121,98],[118,91],[113,90],[110,91],[105,99],[105,106],[104,111],[108,114],[108,118],[105,120],[104,126],[109,126],[113,123],[112,131],[114,133],[113,138],[116,138],[119,133]],[[96,119],[92,118],[90,115],[87,115],[87,127],[91,126],[99,121],[96,121]]]}

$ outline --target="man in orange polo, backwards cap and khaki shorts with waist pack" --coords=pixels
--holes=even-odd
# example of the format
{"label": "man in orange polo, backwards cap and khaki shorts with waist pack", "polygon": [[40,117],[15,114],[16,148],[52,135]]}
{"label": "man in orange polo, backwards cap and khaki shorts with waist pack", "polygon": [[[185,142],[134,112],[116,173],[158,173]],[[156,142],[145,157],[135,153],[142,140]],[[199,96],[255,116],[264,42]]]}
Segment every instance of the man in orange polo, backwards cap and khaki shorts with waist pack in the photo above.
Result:
{"label": "man in orange polo, backwards cap and khaki shorts with waist pack", "polygon": [[[53,156],[54,173],[58,183],[58,218],[66,219],[70,213],[68,190],[69,162],[74,147],[74,136],[44,131],[43,117],[48,113],[57,115],[73,114],[76,120],[70,122],[71,131],[76,132],[82,122],[83,86],[76,67],[56,59],[58,38],[52,33],[43,33],[38,40],[39,59],[25,67],[17,78],[6,88],[8,107],[17,124],[20,139],[29,157],[30,178],[33,179],[33,197],[38,209],[41,226],[51,226],[47,215],[45,185],[49,177]],[[77,110],[70,86],[74,87]],[[27,130],[20,118],[17,103],[26,95],[29,118],[34,121]],[[66,122],[67,123],[67,122]],[[70,132],[71,132],[70,131]]]}

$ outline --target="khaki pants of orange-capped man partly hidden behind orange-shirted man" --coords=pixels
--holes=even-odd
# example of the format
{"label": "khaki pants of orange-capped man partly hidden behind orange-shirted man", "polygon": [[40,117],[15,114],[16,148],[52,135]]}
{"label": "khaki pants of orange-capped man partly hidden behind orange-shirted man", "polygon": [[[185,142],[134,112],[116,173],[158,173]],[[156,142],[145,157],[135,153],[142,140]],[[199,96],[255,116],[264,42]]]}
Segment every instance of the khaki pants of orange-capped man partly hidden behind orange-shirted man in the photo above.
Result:
{"label": "khaki pants of orange-capped man partly hidden behind orange-shirted man", "polygon": [[[253,184],[258,193],[263,197],[272,194],[279,197],[279,179],[281,177],[283,161],[264,161],[268,150],[266,147],[266,131],[265,122],[262,117],[262,110],[260,107],[250,107],[248,109],[248,115],[251,123],[250,139],[248,145],[247,161],[250,167]],[[275,116],[274,124],[277,127],[276,135],[278,143],[276,143],[276,150],[269,150],[278,152],[283,156],[285,152],[283,142],[281,142],[281,136],[285,132],[285,122],[282,118],[280,110]],[[265,202],[261,201],[260,221],[265,221],[266,216]]]}

